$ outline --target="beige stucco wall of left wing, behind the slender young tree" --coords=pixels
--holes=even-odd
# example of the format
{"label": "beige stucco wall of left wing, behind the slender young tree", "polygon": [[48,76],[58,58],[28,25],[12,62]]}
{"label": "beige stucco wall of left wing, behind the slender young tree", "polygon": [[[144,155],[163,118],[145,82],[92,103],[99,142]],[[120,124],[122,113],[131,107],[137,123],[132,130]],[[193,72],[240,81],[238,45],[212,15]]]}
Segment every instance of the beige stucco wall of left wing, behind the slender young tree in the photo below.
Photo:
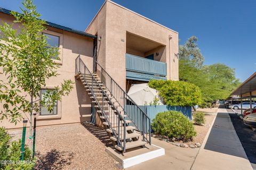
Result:
{"label": "beige stucco wall of left wing, behind the slender young tree", "polygon": [[[13,17],[11,15],[0,13],[0,20],[7,23],[12,23]],[[14,25],[18,28],[18,24]],[[92,70],[93,62],[93,39],[77,35],[68,31],[47,27],[47,32],[52,35],[60,36],[60,52],[61,61],[60,68],[58,69],[58,77],[51,78],[46,81],[46,87],[51,88],[60,86],[63,80],[71,79],[74,84],[74,89],[70,92],[69,96],[62,97],[62,101],[58,103],[57,116],[39,116],[37,125],[52,125],[63,123],[75,123],[91,120],[91,100],[85,91],[82,82],[76,80],[75,75],[75,59],[80,54],[86,66]],[[0,79],[6,78],[0,74]],[[1,107],[1,106],[0,106]],[[23,117],[26,117],[23,115]],[[0,126],[6,128],[20,128],[22,123],[16,126],[9,123],[7,120],[0,122]]]}

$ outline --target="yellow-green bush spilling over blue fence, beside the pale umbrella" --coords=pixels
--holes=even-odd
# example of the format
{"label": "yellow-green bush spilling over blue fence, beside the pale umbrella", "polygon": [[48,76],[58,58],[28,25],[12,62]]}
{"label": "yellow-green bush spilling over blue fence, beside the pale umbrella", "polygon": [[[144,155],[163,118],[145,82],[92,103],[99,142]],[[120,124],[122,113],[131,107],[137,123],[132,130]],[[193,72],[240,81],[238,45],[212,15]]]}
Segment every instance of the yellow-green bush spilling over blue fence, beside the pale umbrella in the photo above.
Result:
{"label": "yellow-green bush spilling over blue fence, beside the pale umbrella", "polygon": [[202,101],[200,89],[185,81],[150,80],[148,85],[158,90],[166,105],[195,106]]}

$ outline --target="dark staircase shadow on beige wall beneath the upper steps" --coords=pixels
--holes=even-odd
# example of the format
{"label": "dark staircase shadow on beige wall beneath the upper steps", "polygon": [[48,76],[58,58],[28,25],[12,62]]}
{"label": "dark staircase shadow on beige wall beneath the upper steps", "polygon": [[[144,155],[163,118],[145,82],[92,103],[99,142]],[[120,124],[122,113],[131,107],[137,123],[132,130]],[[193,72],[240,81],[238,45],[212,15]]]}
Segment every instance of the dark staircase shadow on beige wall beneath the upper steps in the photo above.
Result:
{"label": "dark staircase shadow on beige wall beneath the upper steps", "polygon": [[80,122],[91,121],[91,99],[81,80],[75,79]]}

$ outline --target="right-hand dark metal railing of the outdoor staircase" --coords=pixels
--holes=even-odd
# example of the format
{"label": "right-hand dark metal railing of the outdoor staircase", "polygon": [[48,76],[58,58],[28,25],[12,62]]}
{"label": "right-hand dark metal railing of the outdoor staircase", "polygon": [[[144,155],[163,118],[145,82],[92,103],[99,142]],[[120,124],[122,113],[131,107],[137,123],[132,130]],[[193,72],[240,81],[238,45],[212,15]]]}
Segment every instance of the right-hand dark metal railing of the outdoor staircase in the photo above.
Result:
{"label": "right-hand dark metal railing of the outdoor staircase", "polygon": [[151,120],[148,115],[127,95],[127,93],[119,86],[119,84],[111,78],[105,69],[97,62],[97,72],[99,71],[101,82],[110,91],[117,103],[122,107],[122,111],[130,118],[133,125],[139,130],[143,136],[143,141],[147,141],[151,145]]}

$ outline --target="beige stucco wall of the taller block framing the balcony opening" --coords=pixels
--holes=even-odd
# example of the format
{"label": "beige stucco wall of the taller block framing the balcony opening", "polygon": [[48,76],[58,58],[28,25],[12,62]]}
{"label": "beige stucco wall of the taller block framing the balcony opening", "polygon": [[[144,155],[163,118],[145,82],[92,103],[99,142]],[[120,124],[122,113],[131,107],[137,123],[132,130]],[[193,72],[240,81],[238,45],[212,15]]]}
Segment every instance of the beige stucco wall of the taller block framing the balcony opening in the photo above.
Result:
{"label": "beige stucco wall of the taller block framing the balcony opening", "polygon": [[[102,25],[105,27],[102,27]],[[167,79],[179,80],[179,63],[178,58],[174,55],[178,54],[177,32],[167,29],[111,1],[105,2],[97,16],[95,16],[92,23],[86,29],[86,32],[92,34],[98,32],[98,37],[102,37],[101,45],[104,42],[105,48],[101,47],[99,49],[98,60],[123,89],[125,89],[126,82],[126,32],[150,39],[165,46],[165,49],[159,49],[159,53],[162,53],[162,56],[164,56],[161,57],[160,61],[167,64]],[[172,36],[171,39],[169,39],[170,36]],[[129,50],[132,51],[132,49]]]}

